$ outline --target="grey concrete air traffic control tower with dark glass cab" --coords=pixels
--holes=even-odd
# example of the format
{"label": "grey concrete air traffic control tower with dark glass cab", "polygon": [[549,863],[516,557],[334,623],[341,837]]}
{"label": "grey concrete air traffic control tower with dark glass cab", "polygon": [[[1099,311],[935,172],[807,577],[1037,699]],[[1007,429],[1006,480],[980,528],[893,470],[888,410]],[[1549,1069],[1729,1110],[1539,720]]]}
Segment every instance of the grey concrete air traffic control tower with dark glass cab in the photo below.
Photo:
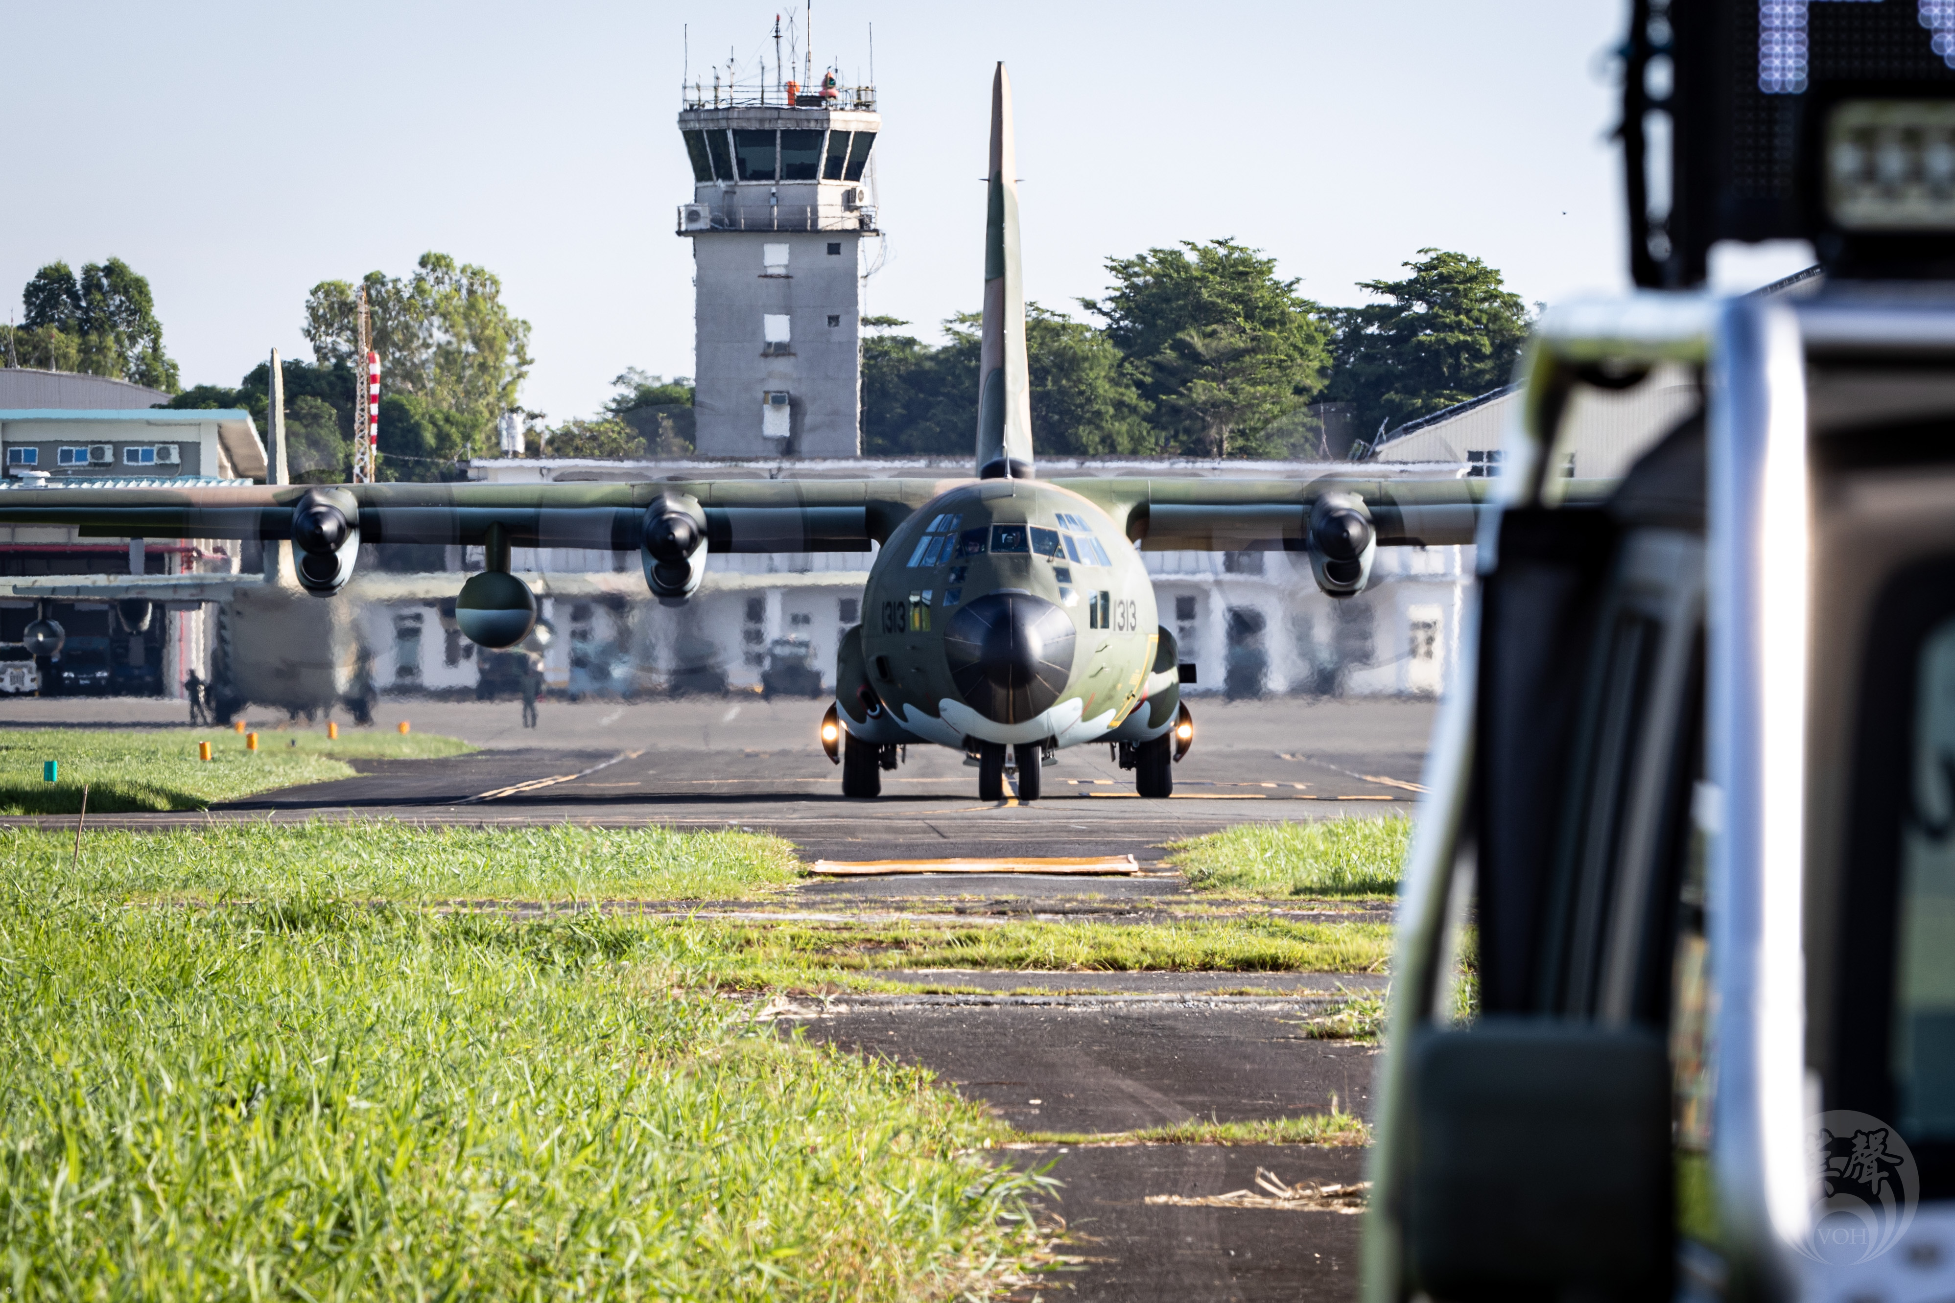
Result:
{"label": "grey concrete air traffic control tower with dark glass cab", "polygon": [[862,447],[864,172],[872,86],[688,88],[696,449],[702,457],[854,457]]}

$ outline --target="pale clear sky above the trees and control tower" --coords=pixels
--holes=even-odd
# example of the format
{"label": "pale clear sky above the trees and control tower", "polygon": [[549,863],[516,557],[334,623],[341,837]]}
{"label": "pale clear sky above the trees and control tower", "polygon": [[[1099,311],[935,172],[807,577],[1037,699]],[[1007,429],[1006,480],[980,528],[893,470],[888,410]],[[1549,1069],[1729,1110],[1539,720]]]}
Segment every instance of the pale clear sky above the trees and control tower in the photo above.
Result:
{"label": "pale clear sky above the trees and control tower", "polygon": [[[983,277],[991,64],[1017,88],[1028,295],[1236,236],[1324,303],[1421,246],[1529,301],[1621,289],[1607,49],[1627,0],[817,0],[815,53],[884,113],[868,311],[934,322]],[[194,6],[6,0],[0,295],[125,258],[184,383],[309,356],[307,289],[444,250],[534,324],[524,391],[592,412],[624,367],[692,369],[690,66],[772,57],[770,4]],[[782,8],[802,25],[802,6]],[[688,31],[690,29],[690,31]],[[686,39],[690,35],[690,41]],[[872,246],[874,248],[874,246]]]}

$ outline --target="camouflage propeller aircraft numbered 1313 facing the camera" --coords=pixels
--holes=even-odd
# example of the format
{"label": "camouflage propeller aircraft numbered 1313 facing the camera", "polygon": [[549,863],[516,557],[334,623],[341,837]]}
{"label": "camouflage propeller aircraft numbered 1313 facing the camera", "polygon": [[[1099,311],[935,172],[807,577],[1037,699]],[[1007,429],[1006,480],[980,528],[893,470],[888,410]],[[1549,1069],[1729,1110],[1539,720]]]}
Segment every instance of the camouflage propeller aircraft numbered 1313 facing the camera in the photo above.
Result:
{"label": "camouflage propeller aircraft numbered 1313 facing the camera", "polygon": [[1140,795],[1165,797],[1195,723],[1138,547],[1304,551],[1318,586],[1343,598],[1365,588],[1378,547],[1470,543],[1488,481],[1036,479],[1013,172],[999,64],[970,479],[59,488],[0,496],[0,524],[256,537],[289,549],[297,588],[323,598],[348,586],[362,541],[479,545],[487,570],[461,586],[456,619],[491,649],[538,617],[510,547],[635,551],[651,594],[676,606],[716,551],[874,543],[821,727],[845,795],[878,795],[899,748],[934,742],[976,760],[987,801],[1003,797],[1007,762],[1032,799],[1042,764],[1079,744],[1112,744]]}

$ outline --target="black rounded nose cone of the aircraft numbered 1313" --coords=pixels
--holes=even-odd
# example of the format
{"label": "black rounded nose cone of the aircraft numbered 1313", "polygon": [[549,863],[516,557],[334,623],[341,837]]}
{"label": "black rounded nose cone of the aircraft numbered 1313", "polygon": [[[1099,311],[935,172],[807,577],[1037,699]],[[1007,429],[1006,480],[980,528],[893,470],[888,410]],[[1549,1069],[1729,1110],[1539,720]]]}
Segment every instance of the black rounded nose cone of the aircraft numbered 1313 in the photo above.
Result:
{"label": "black rounded nose cone of the aircraft numbered 1313", "polygon": [[1073,621],[1028,592],[991,592],[950,617],[944,656],[974,711],[1003,725],[1022,723],[1065,692]]}

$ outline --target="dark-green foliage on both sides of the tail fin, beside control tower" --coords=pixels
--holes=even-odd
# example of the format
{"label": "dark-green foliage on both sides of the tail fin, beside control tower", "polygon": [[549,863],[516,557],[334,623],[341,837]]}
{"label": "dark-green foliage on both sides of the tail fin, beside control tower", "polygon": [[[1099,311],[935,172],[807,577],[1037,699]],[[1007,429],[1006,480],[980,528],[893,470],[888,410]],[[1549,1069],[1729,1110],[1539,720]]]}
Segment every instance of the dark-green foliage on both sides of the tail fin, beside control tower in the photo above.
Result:
{"label": "dark-green foliage on both sides of the tail fin, beside control tower", "polygon": [[[909,322],[868,316],[872,328]],[[978,445],[981,318],[958,313],[950,340],[931,348],[907,334],[862,340],[862,451],[876,457],[964,457]],[[1032,441],[1056,457],[1148,453],[1157,447],[1148,404],[1107,338],[1065,313],[1028,303],[1024,348],[1032,381]]]}

